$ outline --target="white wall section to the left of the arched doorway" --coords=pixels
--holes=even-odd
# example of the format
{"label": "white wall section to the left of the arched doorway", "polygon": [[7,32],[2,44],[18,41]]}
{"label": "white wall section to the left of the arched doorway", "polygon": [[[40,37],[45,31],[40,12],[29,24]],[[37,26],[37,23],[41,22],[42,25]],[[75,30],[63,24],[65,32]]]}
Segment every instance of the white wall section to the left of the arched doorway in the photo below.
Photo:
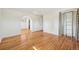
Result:
{"label": "white wall section to the left of the arched doorway", "polygon": [[20,19],[18,13],[3,9],[3,16],[1,21],[1,37],[13,36],[20,34]]}

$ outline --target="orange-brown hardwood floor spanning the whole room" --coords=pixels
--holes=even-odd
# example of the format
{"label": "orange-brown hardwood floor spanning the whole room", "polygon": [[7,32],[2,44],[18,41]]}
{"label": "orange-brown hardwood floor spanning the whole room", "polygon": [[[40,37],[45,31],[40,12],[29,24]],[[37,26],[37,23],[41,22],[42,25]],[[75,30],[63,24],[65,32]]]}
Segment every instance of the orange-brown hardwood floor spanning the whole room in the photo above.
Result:
{"label": "orange-brown hardwood floor spanning the whole room", "polygon": [[79,42],[64,36],[22,30],[21,35],[4,38],[0,50],[78,50]]}

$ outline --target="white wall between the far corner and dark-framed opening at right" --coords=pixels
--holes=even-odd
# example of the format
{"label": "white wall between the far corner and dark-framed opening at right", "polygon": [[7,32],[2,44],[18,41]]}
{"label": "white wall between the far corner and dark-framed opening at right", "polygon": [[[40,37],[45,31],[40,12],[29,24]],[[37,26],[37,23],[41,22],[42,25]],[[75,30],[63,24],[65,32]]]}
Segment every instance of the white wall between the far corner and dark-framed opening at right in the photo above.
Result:
{"label": "white wall between the far corner and dark-framed opening at right", "polygon": [[43,30],[44,32],[58,35],[59,31],[59,13],[58,11],[52,11],[53,14],[43,16]]}

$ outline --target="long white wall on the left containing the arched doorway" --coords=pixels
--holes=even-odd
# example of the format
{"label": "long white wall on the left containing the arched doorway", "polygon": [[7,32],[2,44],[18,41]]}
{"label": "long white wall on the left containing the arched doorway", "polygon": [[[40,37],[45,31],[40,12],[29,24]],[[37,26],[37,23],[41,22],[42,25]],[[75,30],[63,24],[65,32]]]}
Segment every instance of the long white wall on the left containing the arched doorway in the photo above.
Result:
{"label": "long white wall on the left containing the arched doorway", "polygon": [[[20,30],[23,26],[27,26],[25,22],[22,24],[24,16],[29,16],[32,20],[32,31],[38,31],[42,29],[42,17],[39,15],[30,15],[20,11],[12,9],[2,9],[0,13],[3,12],[3,15],[0,15],[0,37],[8,37],[20,34]],[[2,19],[1,19],[2,17]]]}

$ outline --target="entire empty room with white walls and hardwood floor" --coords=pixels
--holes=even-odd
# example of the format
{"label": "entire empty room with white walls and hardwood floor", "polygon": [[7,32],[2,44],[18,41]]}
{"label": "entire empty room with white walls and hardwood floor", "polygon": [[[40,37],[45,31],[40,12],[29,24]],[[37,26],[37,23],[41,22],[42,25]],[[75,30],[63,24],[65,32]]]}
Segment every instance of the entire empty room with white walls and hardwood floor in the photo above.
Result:
{"label": "entire empty room with white walls and hardwood floor", "polygon": [[78,8],[0,8],[0,50],[78,49]]}

